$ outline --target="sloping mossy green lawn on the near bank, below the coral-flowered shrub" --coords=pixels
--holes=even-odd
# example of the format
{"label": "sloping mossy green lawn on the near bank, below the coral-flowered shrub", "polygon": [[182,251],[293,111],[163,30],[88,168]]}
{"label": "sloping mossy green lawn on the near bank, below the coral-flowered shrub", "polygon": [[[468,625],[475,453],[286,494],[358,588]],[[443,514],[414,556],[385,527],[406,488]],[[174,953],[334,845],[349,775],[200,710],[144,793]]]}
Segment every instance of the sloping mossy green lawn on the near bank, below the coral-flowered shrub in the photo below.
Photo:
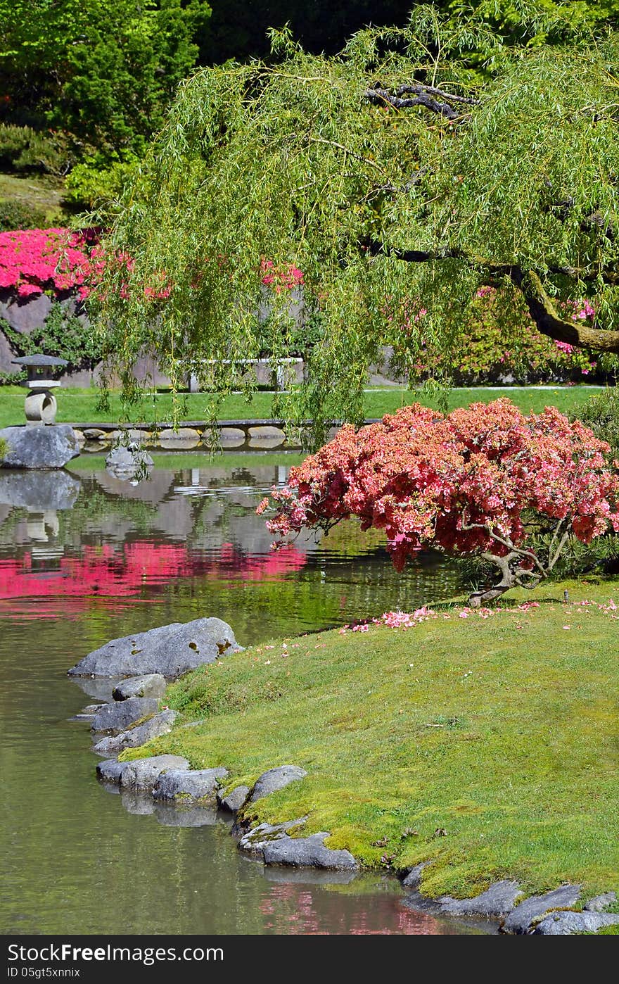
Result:
{"label": "sloping mossy green lawn on the near bank, below the coral-flowered shrub", "polygon": [[308,815],[305,832],[330,830],[328,846],[370,866],[432,860],[432,896],[507,877],[525,892],[619,890],[613,595],[619,581],[547,585],[526,593],[535,607],[513,592],[486,617],[441,605],[407,630],[251,646],[168,689],[181,723],[146,754],[224,765],[230,788],[301,766],[251,816]]}

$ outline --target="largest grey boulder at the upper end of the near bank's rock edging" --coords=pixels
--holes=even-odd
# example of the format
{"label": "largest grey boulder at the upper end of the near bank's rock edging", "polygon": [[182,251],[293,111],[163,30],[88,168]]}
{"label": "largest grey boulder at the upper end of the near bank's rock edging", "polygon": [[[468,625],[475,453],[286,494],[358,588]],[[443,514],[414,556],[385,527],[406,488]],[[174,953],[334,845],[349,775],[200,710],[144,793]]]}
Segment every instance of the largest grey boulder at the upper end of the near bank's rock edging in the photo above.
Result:
{"label": "largest grey boulder at the upper end of the near bank's rock edging", "polygon": [[166,680],[241,651],[234,633],[218,618],[174,622],[148,632],[113,639],[69,670],[70,676],[140,676],[160,673]]}

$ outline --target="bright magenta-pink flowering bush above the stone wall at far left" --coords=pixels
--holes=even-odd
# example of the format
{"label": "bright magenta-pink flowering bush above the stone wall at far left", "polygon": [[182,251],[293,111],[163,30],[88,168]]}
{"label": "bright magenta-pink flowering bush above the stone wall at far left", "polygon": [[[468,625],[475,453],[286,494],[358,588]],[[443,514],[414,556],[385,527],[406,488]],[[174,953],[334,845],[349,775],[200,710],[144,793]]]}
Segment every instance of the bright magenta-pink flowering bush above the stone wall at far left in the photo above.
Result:
{"label": "bright magenta-pink flowering bush above the stone wall at far left", "polygon": [[0,289],[20,297],[77,290],[87,297],[102,273],[93,229],[26,229],[0,233]]}

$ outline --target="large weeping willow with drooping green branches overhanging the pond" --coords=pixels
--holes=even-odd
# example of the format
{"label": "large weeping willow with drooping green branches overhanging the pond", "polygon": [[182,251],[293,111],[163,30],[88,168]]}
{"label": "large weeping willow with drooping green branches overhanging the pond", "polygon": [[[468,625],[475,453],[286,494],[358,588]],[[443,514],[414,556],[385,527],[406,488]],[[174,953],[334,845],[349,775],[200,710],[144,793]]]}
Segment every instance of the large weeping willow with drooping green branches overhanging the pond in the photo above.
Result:
{"label": "large weeping willow with drooping green branches overhanging the pond", "polygon": [[[280,31],[270,62],[188,80],[105,241],[99,325],[126,397],[152,350],[175,391],[188,373],[210,386],[217,416],[240,360],[306,333],[305,383],[278,412],[320,440],[359,419],[383,346],[448,380],[488,288],[506,343],[528,316],[619,352],[619,34],[578,34],[561,9],[553,45],[421,6],[337,57]],[[542,30],[532,17],[524,41]]]}

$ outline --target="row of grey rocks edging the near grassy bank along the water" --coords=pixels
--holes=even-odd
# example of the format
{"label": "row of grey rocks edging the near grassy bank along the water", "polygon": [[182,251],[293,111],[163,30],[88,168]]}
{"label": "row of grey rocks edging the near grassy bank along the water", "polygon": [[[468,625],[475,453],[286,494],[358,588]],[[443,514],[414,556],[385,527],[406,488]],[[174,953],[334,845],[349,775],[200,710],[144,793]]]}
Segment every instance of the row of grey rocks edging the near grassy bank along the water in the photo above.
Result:
{"label": "row of grey rocks edging the near grassy bank along the water", "polygon": [[[168,681],[241,650],[227,623],[203,618],[112,640],[72,667],[68,675],[74,678],[116,680],[111,701],[90,705],[76,715],[76,719],[91,723],[93,751],[108,756],[96,766],[98,779],[118,787],[132,813],[163,811],[164,823],[201,826],[215,822],[217,810],[227,813],[233,820],[231,833],[239,850],[267,866],[312,868],[342,875],[361,871],[361,864],[349,851],[326,846],[331,831],[304,835],[307,817],[254,826],[243,817],[252,803],[291,782],[302,781],[307,772],[299,766],[267,769],[249,787],[226,782],[229,772],[221,764],[191,769],[186,759],[173,755],[118,761],[125,749],[140,748],[171,731],[178,714],[160,705]],[[619,913],[606,911],[616,902],[614,892],[597,895],[577,910],[579,885],[562,885],[526,897],[518,882],[504,880],[473,898],[429,898],[420,892],[423,870],[429,864],[421,863],[401,873],[407,892],[402,904],[409,909],[438,917],[487,919],[496,923],[498,932],[509,935],[570,936],[619,924]]]}

